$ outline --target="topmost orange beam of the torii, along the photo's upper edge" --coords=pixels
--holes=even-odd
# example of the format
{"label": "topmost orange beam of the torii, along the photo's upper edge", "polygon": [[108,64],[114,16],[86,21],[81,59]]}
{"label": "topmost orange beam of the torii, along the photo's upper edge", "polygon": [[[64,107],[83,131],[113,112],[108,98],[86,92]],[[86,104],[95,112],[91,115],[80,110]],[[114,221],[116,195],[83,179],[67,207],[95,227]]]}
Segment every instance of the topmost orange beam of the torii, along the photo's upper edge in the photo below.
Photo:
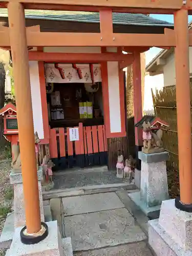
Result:
{"label": "topmost orange beam of the torii, along the photo's upper edge", "polygon": [[172,14],[181,8],[192,11],[190,0],[8,0],[0,1],[0,7],[9,2],[24,4],[25,9],[73,10],[98,12],[111,9],[113,12],[165,13]]}

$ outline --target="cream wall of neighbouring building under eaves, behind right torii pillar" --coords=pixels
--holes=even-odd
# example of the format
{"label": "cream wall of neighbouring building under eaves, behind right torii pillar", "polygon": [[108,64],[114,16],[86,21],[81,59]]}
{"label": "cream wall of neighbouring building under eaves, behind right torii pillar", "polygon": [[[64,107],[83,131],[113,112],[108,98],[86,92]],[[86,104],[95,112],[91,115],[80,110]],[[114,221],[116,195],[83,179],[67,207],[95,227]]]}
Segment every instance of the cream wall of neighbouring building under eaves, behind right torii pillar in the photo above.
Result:
{"label": "cream wall of neighbouring building under eaves, behind right torii pillar", "polygon": [[[189,47],[189,72],[192,74],[192,47]],[[174,86],[176,84],[175,54],[166,59],[163,67],[164,86]]]}

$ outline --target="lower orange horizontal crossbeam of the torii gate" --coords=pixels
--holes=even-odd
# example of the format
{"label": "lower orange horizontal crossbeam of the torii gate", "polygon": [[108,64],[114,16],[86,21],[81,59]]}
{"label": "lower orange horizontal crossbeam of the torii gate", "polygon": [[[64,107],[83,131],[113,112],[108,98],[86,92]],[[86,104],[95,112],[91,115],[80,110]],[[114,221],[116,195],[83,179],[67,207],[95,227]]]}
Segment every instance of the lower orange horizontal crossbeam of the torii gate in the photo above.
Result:
{"label": "lower orange horizontal crossbeam of the torii gate", "polygon": [[[10,46],[9,32],[0,31],[0,47]],[[113,34],[104,38],[101,33],[31,32],[27,30],[27,45],[38,46],[175,46],[175,33]]]}

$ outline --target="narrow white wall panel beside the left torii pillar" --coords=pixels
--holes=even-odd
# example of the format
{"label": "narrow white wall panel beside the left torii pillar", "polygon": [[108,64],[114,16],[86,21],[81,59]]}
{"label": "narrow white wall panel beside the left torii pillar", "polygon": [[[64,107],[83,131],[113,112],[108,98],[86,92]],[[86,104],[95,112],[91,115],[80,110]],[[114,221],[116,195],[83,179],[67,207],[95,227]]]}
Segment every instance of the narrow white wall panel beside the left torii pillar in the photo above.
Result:
{"label": "narrow white wall panel beside the left torii pillar", "polygon": [[31,83],[34,132],[38,133],[39,139],[44,139],[38,61],[29,61],[29,72]]}

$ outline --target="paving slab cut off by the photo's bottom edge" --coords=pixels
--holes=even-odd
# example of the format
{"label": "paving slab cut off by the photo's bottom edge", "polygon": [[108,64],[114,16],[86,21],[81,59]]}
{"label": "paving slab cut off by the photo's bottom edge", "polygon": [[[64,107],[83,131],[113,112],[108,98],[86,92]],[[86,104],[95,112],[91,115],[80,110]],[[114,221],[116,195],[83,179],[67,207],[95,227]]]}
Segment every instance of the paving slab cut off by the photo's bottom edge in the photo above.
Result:
{"label": "paving slab cut off by the photo's bottom edge", "polygon": [[74,256],[153,256],[145,242],[81,251]]}

